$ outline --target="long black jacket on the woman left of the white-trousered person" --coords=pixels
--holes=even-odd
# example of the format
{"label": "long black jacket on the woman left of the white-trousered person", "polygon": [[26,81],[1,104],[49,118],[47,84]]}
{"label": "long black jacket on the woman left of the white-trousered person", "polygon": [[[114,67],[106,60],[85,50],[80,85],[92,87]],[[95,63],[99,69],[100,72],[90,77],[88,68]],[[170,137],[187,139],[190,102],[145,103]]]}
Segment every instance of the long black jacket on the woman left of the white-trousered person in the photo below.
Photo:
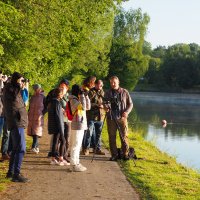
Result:
{"label": "long black jacket on the woman left of the white-trousered person", "polygon": [[49,134],[64,135],[64,119],[61,103],[53,98],[48,104],[48,132]]}

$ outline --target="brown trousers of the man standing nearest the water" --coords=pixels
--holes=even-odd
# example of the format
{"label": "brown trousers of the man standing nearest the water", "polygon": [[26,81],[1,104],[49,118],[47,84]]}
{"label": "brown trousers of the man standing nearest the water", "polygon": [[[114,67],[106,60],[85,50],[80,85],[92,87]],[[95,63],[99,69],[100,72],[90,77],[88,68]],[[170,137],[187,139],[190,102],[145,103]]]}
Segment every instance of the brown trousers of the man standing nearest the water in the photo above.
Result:
{"label": "brown trousers of the man standing nearest the water", "polygon": [[[116,122],[118,123],[121,134],[120,140],[121,140],[121,148],[124,156],[128,155],[128,123],[126,118],[117,119]],[[117,143],[116,143],[116,136],[117,136],[117,130],[118,127],[116,125],[116,122],[111,119],[107,119],[107,129],[108,129],[108,135],[109,135],[109,145],[110,145],[110,151],[111,155],[113,157],[117,157]]]}

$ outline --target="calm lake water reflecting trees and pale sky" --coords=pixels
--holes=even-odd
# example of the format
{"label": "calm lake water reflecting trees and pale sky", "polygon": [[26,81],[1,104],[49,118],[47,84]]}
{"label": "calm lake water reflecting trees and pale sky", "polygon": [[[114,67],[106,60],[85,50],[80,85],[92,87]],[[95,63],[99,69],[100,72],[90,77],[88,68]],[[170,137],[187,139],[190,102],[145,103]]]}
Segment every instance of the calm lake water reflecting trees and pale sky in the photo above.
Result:
{"label": "calm lake water reflecting trees and pale sky", "polygon": [[[134,92],[132,97],[139,119],[132,121],[145,128],[144,138],[200,170],[200,95]],[[165,128],[163,119],[168,122]]]}

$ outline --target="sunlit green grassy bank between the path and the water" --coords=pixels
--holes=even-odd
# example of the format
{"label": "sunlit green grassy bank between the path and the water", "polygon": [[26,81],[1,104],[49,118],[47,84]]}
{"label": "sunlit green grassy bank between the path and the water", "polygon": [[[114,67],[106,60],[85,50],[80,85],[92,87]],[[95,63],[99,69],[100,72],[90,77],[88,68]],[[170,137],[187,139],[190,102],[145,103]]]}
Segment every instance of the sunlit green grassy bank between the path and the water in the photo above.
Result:
{"label": "sunlit green grassy bank between the path and the water", "polygon": [[[108,135],[104,127],[103,142],[108,148]],[[175,158],[159,151],[145,141],[141,133],[129,132],[130,146],[141,160],[118,161],[130,183],[142,199],[197,200],[200,199],[200,174],[176,162]],[[118,145],[119,143],[119,138]]]}

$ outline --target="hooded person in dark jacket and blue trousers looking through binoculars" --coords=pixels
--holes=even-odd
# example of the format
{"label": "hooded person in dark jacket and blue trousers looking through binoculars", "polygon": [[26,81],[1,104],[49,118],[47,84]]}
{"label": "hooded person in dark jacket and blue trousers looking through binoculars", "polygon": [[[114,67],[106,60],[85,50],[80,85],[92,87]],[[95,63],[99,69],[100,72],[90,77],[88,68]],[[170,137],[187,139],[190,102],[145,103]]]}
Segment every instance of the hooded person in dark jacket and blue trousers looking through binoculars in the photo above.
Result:
{"label": "hooded person in dark jacket and blue trousers looking through binoculars", "polygon": [[14,72],[11,81],[5,85],[3,91],[3,106],[12,143],[9,169],[6,177],[12,178],[13,182],[29,181],[29,179],[20,174],[26,152],[24,129],[28,125],[28,115],[20,93],[23,79],[20,73]]}

